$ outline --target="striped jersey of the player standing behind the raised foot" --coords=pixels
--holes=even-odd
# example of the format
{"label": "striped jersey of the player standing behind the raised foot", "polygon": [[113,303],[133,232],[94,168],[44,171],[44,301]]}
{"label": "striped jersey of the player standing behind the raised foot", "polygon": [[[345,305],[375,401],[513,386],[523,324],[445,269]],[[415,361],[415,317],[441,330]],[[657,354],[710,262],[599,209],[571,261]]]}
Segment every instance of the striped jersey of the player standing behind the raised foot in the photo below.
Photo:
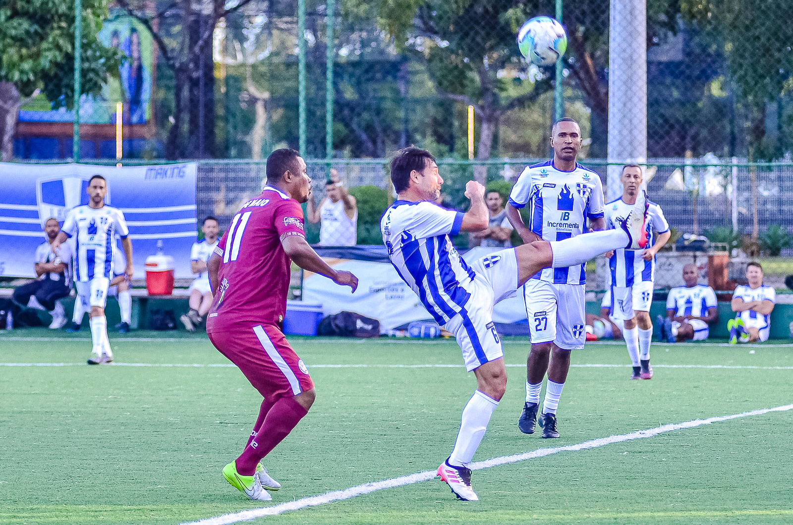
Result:
{"label": "striped jersey of the player standing behind the raised foot", "polygon": [[[649,202],[649,209],[647,209],[647,246],[653,246],[655,242],[654,234],[665,233],[669,231],[669,224],[666,222],[664,212],[661,206],[654,202]],[[627,219],[630,210],[634,208],[632,204],[626,204],[622,197],[616,201],[611,201],[606,205],[606,228],[619,228],[621,221]],[[611,259],[608,260],[608,266],[611,269],[611,285],[628,287],[633,286],[634,282],[639,281],[653,281],[655,282],[655,257],[652,260],[646,261],[642,259],[643,248],[638,250],[629,250],[626,248],[617,248]]]}

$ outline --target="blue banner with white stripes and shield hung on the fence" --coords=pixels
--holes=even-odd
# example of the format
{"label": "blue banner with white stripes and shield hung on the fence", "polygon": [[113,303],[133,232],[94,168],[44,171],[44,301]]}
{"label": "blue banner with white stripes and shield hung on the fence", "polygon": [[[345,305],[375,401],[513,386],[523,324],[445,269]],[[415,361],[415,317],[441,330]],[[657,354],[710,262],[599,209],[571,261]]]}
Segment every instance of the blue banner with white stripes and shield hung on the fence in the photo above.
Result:
{"label": "blue banner with white stripes and shield hung on the fence", "polygon": [[132,240],[134,278],[163,241],[175,276],[190,278],[190,247],[196,242],[196,165],[114,167],[89,164],[0,163],[0,275],[35,277],[33,255],[44,242],[44,223],[62,225],[67,212],[88,204],[88,180],[107,180],[105,204],[121,209]]}

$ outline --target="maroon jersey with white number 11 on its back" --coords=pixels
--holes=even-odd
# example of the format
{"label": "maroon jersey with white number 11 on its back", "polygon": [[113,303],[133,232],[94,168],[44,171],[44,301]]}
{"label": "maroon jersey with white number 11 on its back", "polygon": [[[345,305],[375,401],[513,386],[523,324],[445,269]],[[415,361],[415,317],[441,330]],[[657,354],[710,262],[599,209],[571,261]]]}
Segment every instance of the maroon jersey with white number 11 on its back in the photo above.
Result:
{"label": "maroon jersey with white number 11 on its back", "polygon": [[297,201],[266,186],[259,197],[243,204],[215,248],[223,262],[207,331],[281,324],[291,266],[281,241],[288,236],[305,237]]}

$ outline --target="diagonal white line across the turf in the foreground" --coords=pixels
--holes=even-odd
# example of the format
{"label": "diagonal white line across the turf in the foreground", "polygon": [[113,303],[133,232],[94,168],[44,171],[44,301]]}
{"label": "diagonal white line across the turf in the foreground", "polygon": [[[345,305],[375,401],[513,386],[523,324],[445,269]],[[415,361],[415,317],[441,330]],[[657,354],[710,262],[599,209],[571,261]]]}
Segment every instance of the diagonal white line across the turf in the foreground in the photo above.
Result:
{"label": "diagonal white line across the turf in the foreground", "polygon": [[[718,423],[719,421],[734,420],[739,417],[746,416],[760,416],[768,412],[785,412],[793,409],[793,404],[784,404],[774,408],[761,408],[760,410],[753,410],[752,412],[741,412],[740,414],[733,414],[732,416],[716,416],[709,417],[707,420],[691,420],[684,423],[669,423],[661,425],[661,427],[649,428],[648,430],[640,430],[630,432],[629,434],[610,435],[607,438],[592,439],[591,441],[584,441],[584,443],[577,443],[575,445],[556,446],[554,448],[541,448],[532,450],[531,452],[523,452],[521,454],[512,454],[511,456],[501,456],[500,458],[487,459],[484,462],[476,462],[471,464],[472,470],[489,469],[494,466],[504,465],[506,463],[523,462],[527,459],[542,458],[550,454],[557,454],[558,452],[587,450],[596,448],[598,446],[611,445],[611,443],[621,443],[623,441],[631,441],[634,439],[652,438],[656,435],[663,434],[664,432],[671,432],[682,430],[684,428],[699,427],[700,425],[707,425],[711,423]],[[232,514],[224,514],[213,518],[199,519],[198,521],[191,521],[182,523],[182,525],[228,525],[228,523],[237,523],[239,521],[247,521],[248,519],[256,519],[267,515],[278,515],[288,511],[297,511],[301,508],[316,507],[317,505],[328,504],[331,501],[348,500],[355,496],[362,496],[370,492],[376,492],[382,489],[391,489],[393,487],[400,487],[402,485],[412,485],[420,481],[429,481],[435,477],[435,470],[424,470],[408,474],[407,476],[393,477],[383,481],[375,481],[374,483],[364,483],[349,489],[335,490],[332,492],[325,492],[318,496],[308,496],[300,500],[289,501],[282,504],[273,505],[272,507],[255,508],[243,512],[234,512]]]}

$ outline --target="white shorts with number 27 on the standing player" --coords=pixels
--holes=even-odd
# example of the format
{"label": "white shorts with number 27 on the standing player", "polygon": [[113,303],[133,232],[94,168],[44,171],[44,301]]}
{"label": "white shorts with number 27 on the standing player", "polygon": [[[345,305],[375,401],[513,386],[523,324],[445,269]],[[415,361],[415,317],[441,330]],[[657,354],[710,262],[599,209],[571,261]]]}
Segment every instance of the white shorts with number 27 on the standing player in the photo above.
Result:
{"label": "white shorts with number 27 on the standing player", "polygon": [[585,285],[555,285],[529,279],[523,286],[531,343],[553,341],[564,350],[584,347]]}

